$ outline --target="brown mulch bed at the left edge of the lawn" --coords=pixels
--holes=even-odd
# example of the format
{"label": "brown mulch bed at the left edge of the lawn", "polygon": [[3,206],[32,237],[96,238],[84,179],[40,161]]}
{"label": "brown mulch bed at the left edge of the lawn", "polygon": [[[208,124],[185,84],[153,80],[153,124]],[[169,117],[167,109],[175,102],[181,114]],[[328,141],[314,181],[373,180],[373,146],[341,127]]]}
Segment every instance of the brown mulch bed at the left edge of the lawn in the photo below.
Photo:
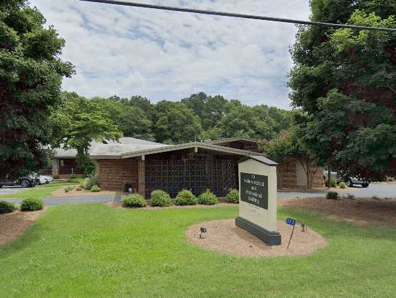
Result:
{"label": "brown mulch bed at the left edge of the lawn", "polygon": [[14,241],[44,214],[46,209],[33,212],[14,211],[0,214],[0,246]]}

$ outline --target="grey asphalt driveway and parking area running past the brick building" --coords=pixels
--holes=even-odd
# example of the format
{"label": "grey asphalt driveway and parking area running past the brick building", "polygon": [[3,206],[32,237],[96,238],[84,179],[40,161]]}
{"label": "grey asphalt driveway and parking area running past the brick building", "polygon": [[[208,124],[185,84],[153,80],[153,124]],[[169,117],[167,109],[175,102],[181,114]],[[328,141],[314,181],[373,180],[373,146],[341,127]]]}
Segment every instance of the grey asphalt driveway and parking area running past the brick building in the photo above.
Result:
{"label": "grey asphalt driveway and parking area running past the brick building", "polygon": [[[21,187],[1,187],[0,195],[12,194],[22,190]],[[353,187],[347,190],[338,189],[339,194],[354,194],[358,198],[372,198],[377,196],[378,198],[396,198],[396,183],[372,183],[367,188]],[[320,198],[327,194],[327,190],[313,191],[313,192],[278,192],[278,198]],[[119,200],[119,195],[85,195],[85,196],[56,196],[53,198],[42,198],[45,205],[71,205],[71,204],[89,204],[89,203],[106,203],[110,200]],[[21,203],[21,199],[2,199],[11,200],[18,204]]]}

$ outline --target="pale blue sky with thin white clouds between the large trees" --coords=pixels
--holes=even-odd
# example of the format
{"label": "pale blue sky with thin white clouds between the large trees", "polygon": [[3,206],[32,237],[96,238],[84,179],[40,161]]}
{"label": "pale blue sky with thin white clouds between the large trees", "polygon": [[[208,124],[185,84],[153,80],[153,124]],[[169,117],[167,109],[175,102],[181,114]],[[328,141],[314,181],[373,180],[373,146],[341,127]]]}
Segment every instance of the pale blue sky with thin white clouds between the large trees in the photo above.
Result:
{"label": "pale blue sky with thin white clouds between the large trees", "polygon": [[[308,20],[308,0],[138,0]],[[75,65],[63,89],[88,98],[142,95],[158,102],[193,93],[290,108],[295,25],[164,12],[79,0],[30,0],[66,40]]]}

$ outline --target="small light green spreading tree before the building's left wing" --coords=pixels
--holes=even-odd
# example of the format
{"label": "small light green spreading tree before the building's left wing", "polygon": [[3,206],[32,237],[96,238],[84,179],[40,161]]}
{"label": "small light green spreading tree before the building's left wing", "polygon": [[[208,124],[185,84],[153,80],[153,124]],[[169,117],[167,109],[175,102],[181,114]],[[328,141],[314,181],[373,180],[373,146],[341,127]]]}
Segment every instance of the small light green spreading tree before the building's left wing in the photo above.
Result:
{"label": "small light green spreading tree before the building's left wing", "polygon": [[77,165],[89,175],[95,170],[95,163],[89,158],[92,141],[103,142],[123,137],[112,122],[110,114],[99,105],[76,93],[62,93],[64,104],[51,116],[57,131],[54,146],[77,150]]}

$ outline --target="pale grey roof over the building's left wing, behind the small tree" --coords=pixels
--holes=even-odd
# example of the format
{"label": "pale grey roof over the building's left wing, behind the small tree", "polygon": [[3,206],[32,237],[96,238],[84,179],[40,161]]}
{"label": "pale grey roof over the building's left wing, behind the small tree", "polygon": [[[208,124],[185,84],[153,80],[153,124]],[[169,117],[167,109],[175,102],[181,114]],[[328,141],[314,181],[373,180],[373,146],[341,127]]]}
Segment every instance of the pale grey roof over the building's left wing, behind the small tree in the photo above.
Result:
{"label": "pale grey roof over the building's left wing, behind the small tree", "polygon": [[[100,158],[121,158],[121,154],[125,152],[135,152],[140,150],[148,150],[152,148],[163,148],[169,145],[155,143],[153,141],[145,141],[143,139],[135,139],[133,137],[122,137],[117,141],[106,141],[107,144],[97,143],[93,141],[90,144],[90,157],[93,159]],[[55,158],[75,158],[77,150],[55,149]]]}

